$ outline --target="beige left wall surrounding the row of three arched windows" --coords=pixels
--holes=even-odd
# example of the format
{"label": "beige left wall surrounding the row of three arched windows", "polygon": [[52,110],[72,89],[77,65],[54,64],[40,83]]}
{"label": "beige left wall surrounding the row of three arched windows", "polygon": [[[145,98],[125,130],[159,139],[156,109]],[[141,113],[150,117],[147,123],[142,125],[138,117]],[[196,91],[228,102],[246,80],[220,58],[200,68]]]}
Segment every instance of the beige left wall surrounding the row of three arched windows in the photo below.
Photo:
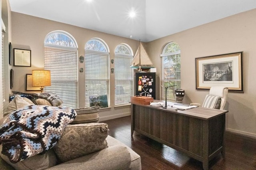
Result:
{"label": "beige left wall surrounding the row of three arched windows", "polygon": [[[91,38],[100,38],[106,42],[110,49],[110,59],[114,59],[114,50],[120,43],[126,43],[130,45],[133,52],[135,52],[138,47],[138,41],[128,38],[113,36],[110,34],[96,32],[60,22],[54,22],[34,16],[12,12],[12,47],[31,49],[32,55],[31,67],[12,67],[14,69],[14,87],[12,91],[25,91],[26,74],[31,74],[33,69],[44,68],[44,38],[49,32],[54,30],[63,30],[74,37],[78,43],[78,56],[84,56],[84,45]],[[79,62],[78,68],[81,67],[84,68],[84,63]],[[110,68],[114,68],[114,64],[110,63]],[[78,72],[78,76],[79,107],[84,107],[84,72]],[[114,94],[114,88],[114,74],[111,73],[110,94]],[[100,112],[101,120],[130,115],[130,106],[114,108],[114,95],[110,95],[110,107],[110,110]]]}

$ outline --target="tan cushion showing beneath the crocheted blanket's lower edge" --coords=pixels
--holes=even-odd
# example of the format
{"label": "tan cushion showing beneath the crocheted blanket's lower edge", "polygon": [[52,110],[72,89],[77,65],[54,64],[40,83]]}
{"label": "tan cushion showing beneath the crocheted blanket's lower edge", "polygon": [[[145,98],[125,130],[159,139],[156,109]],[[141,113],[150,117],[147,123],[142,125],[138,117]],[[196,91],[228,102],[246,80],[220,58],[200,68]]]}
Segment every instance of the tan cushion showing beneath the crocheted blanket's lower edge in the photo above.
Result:
{"label": "tan cushion showing beneath the crocheted blanket's lower edge", "polygon": [[16,164],[11,163],[9,158],[1,152],[2,144],[0,145],[1,158],[17,170],[44,170],[57,164],[57,158],[52,149],[46,151],[44,154],[37,154],[35,156],[26,158],[20,162],[17,162]]}

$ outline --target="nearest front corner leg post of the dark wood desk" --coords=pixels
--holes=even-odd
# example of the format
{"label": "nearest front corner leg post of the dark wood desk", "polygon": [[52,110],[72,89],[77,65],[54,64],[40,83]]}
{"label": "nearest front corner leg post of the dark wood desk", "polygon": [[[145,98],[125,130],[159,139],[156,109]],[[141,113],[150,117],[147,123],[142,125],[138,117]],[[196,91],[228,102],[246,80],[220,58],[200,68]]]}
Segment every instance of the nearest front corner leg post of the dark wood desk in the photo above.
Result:
{"label": "nearest front corner leg post of the dark wood desk", "polygon": [[209,123],[204,121],[203,123],[203,168],[209,169]]}

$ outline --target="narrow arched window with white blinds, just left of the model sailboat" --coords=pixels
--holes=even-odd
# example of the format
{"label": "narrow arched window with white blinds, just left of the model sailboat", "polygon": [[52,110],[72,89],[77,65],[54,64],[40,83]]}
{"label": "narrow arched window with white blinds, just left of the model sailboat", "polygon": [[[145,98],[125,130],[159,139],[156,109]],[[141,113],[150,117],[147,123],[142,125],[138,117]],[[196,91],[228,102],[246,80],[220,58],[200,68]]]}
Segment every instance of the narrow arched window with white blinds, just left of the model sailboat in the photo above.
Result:
{"label": "narrow arched window with white blinds, just left of the model sailboat", "polygon": [[126,44],[115,49],[115,105],[128,104],[132,96],[132,52]]}

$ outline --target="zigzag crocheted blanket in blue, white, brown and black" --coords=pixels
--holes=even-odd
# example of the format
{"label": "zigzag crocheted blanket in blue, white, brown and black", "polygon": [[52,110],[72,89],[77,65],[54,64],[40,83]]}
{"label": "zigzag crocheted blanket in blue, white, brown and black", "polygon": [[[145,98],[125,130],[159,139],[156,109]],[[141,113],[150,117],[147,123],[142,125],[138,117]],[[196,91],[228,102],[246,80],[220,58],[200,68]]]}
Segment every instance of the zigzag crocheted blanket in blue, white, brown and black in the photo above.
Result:
{"label": "zigzag crocheted blanket in blue, white, brown and black", "polygon": [[31,105],[11,113],[0,127],[2,154],[16,163],[52,148],[76,111],[68,107]]}

